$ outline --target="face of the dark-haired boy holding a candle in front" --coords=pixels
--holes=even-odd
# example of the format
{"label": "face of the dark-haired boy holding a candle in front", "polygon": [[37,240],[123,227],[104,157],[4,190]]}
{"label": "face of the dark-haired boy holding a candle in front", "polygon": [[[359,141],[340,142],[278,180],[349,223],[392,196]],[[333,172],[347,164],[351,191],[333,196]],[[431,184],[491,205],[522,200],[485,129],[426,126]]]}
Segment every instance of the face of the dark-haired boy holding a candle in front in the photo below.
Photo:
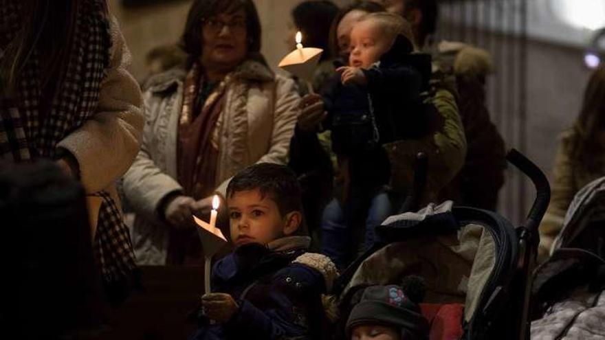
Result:
{"label": "face of the dark-haired boy holding a candle in front", "polygon": [[228,199],[231,240],[236,246],[267,243],[298,229],[300,212],[281,216],[277,203],[260,190],[234,192]]}

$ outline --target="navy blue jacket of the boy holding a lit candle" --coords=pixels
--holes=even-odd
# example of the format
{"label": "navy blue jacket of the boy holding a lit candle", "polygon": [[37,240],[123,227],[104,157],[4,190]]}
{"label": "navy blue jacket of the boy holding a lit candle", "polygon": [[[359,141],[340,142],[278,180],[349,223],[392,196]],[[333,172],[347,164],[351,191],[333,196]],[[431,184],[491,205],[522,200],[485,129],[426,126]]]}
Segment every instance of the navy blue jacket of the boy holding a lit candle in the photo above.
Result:
{"label": "navy blue jacket of the boy holding a lit candle", "polygon": [[278,252],[259,244],[242,245],[219,260],[212,291],[232,295],[239,310],[226,324],[201,317],[191,339],[322,339],[325,276],[298,262],[305,256],[329,261],[304,249]]}

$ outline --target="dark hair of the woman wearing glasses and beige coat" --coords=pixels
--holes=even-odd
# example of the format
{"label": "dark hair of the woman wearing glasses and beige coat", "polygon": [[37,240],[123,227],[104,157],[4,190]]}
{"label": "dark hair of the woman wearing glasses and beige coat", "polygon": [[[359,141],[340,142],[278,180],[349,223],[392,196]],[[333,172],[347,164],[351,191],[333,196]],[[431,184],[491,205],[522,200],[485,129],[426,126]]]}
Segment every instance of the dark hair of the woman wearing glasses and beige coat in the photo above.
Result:
{"label": "dark hair of the woman wearing glasses and beige coat", "polygon": [[259,19],[259,12],[252,0],[196,0],[187,15],[185,32],[181,38],[181,49],[188,54],[188,67],[201,56],[203,21],[211,16],[221,13],[232,14],[238,10],[245,12],[248,54],[260,53],[261,19]]}

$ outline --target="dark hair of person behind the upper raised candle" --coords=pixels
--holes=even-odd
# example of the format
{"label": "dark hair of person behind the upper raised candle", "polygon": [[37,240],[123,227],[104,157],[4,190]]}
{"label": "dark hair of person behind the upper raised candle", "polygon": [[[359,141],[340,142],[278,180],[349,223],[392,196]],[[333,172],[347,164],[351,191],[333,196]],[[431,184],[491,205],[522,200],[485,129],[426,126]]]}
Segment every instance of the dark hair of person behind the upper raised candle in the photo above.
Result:
{"label": "dark hair of person behind the upper raised candle", "polygon": [[322,60],[331,58],[329,32],[336,14],[338,7],[326,0],[303,1],[292,10],[294,25],[303,32],[304,45],[323,49]]}

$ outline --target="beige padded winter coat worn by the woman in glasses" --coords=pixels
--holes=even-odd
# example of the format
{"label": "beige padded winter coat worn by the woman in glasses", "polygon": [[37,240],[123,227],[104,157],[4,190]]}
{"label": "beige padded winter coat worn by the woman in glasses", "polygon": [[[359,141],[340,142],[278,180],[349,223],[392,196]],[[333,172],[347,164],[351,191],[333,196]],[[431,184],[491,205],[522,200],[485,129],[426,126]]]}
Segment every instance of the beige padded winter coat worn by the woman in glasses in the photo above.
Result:
{"label": "beige padded winter coat worn by the woman in glasses", "polygon": [[[137,216],[133,246],[140,264],[164,264],[168,228],[157,207],[177,182],[177,130],[186,72],[174,69],[151,78],[144,91],[143,145],[124,176],[124,195]],[[248,60],[225,80],[225,104],[217,123],[216,191],[225,196],[234,174],[254,163],[285,164],[300,98],[292,80]],[[203,161],[203,160],[202,160]]]}

